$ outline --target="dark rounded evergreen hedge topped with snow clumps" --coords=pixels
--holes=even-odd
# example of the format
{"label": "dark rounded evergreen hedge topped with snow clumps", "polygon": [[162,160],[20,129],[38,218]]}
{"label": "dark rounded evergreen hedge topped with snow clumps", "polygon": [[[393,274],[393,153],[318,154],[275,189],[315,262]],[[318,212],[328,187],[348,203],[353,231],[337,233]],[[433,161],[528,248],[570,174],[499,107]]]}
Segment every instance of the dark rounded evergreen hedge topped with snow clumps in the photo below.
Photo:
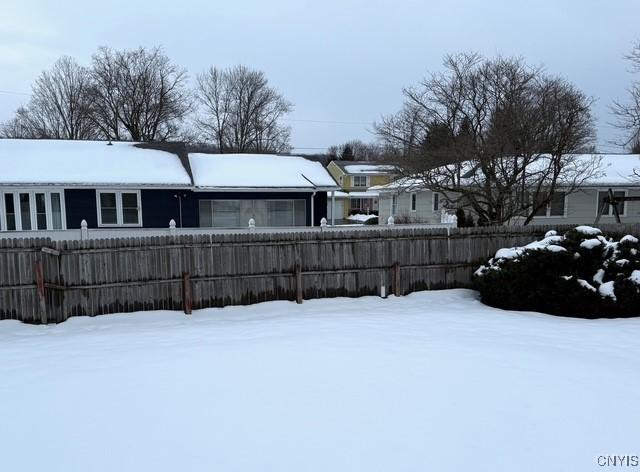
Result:
{"label": "dark rounded evergreen hedge topped with snow clumps", "polygon": [[584,318],[640,316],[640,243],[578,226],[504,248],[474,275],[488,305]]}

